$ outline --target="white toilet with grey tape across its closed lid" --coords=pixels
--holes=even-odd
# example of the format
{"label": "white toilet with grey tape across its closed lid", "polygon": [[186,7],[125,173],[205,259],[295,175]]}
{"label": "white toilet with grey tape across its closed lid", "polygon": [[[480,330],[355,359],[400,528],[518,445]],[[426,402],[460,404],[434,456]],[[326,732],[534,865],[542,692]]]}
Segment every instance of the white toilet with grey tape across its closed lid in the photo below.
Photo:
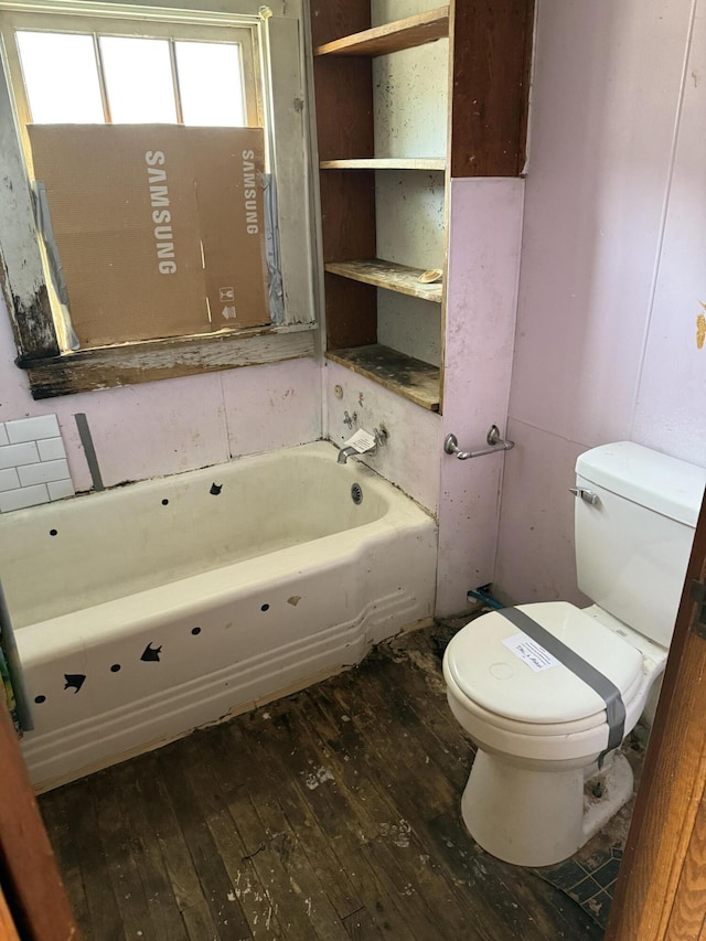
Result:
{"label": "white toilet with grey tape across its closed lid", "polygon": [[578,585],[593,605],[518,605],[462,628],[448,702],[477,746],[461,799],[471,836],[507,863],[571,856],[630,799],[621,740],[667,650],[706,471],[629,441],[576,463]]}

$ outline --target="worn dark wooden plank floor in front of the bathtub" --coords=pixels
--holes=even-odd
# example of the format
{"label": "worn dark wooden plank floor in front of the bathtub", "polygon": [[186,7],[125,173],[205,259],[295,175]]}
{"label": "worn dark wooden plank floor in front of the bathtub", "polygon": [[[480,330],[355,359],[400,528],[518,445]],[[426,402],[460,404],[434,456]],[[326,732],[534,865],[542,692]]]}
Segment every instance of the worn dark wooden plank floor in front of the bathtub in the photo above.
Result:
{"label": "worn dark wooden plank floor in front of the bathtub", "polygon": [[85,941],[592,941],[463,830],[470,749],[425,634],[41,798]]}

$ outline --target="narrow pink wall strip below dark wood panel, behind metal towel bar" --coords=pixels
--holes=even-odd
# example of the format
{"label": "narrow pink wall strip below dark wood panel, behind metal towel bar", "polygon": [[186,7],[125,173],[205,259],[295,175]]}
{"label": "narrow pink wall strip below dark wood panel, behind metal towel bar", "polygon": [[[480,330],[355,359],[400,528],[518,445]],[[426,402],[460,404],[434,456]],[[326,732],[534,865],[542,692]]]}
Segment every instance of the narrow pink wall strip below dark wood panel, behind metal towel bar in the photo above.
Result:
{"label": "narrow pink wall strip below dark wood panel, behind metal towel bar", "polygon": [[523,196],[523,180],[451,181],[438,450],[441,616],[467,610],[469,588],[493,580],[503,462],[513,452],[459,461],[441,445],[450,432],[462,450],[477,450],[486,447],[491,425],[505,431]]}

